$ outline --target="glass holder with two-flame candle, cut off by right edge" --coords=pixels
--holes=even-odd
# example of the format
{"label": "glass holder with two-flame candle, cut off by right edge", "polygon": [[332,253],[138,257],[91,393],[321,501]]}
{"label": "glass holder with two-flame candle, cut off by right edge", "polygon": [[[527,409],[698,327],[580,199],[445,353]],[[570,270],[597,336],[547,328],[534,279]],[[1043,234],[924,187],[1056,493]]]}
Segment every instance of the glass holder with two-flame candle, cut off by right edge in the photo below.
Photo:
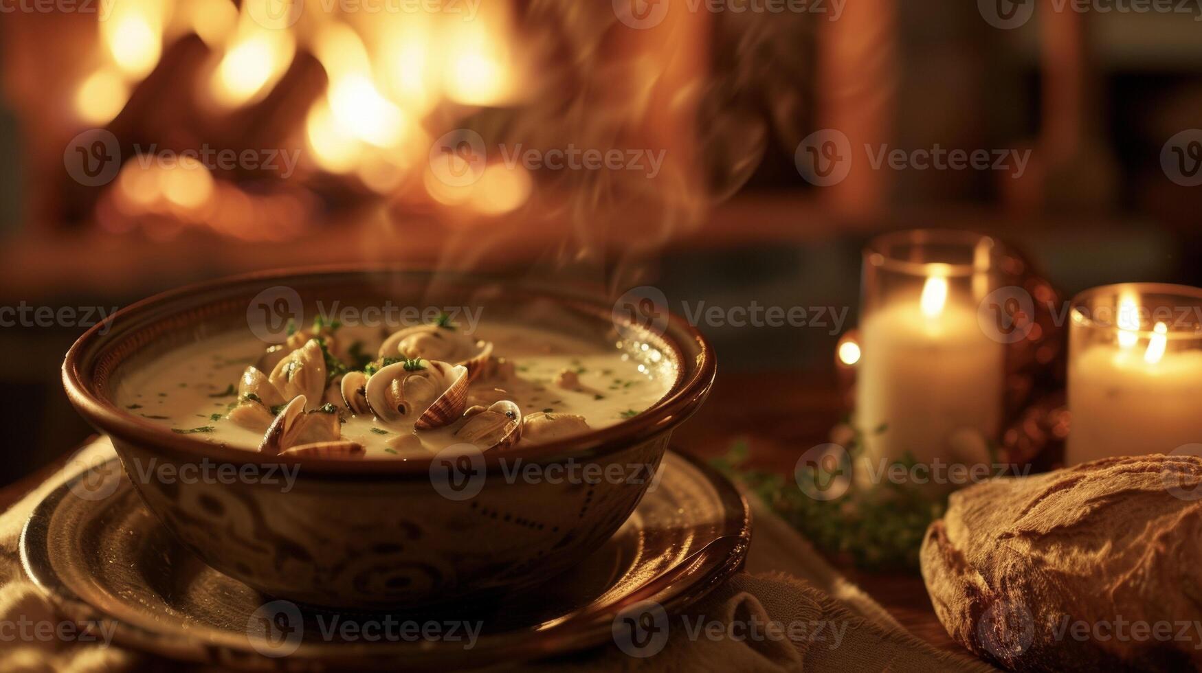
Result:
{"label": "glass holder with two-flame candle, cut off by right edge", "polygon": [[1069,323],[1065,465],[1202,442],[1202,290],[1087,290]]}

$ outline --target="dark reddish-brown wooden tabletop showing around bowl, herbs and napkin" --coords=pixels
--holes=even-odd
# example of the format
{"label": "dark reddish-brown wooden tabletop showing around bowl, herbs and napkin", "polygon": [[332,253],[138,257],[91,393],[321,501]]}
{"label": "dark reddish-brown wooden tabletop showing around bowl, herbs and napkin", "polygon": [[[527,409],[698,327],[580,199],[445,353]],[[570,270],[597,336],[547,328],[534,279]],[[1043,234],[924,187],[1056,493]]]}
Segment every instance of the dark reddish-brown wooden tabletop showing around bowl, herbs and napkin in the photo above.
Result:
{"label": "dark reddish-brown wooden tabletop showing around bowl, herbs and napkin", "polygon": [[[749,404],[749,400],[756,400]],[[746,441],[757,466],[792,474],[797,458],[822,443],[843,413],[833,379],[799,373],[720,374],[702,410],[673,435],[678,451],[701,457],[724,454]],[[52,464],[0,488],[0,511],[59,467]],[[908,573],[865,573],[840,567],[916,637],[935,647],[966,653],[948,638],[927,597],[922,578]]]}

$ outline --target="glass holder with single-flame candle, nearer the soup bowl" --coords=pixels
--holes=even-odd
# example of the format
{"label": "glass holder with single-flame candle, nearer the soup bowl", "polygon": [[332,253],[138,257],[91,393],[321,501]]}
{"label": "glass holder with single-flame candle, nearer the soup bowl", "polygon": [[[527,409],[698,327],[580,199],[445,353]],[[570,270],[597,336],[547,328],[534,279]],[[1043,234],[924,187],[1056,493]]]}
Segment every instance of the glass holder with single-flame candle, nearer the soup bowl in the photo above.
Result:
{"label": "glass holder with single-flame candle, nearer the soup bowl", "polygon": [[999,242],[971,232],[905,231],[868,244],[855,423],[874,467],[908,455],[989,463],[1007,341],[994,311],[1006,303],[999,293],[1020,292],[1008,260]]}

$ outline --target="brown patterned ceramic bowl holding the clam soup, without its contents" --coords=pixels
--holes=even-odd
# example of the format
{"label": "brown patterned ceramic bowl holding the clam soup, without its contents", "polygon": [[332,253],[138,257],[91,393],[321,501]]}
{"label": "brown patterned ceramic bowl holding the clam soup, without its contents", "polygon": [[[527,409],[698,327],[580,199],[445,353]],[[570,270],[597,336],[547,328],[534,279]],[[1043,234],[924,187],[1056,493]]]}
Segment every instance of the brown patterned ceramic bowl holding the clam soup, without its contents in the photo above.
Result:
{"label": "brown patterned ceramic bowl holding the clam soup, without its contents", "polygon": [[[714,379],[712,349],[682,318],[661,317],[650,328],[618,323],[627,345],[648,344],[674,365],[674,385],[651,409],[504,455],[405,460],[269,457],[172,433],[114,403],[121,381],[155,356],[262,328],[256,302],[269,288],[286,288],[267,294],[298,298],[304,310],[333,302],[477,306],[484,320],[505,320],[532,306],[557,316],[554,329],[623,336],[613,306],[587,291],[389,269],[297,270],[196,285],[138,302],[88,330],[66,355],[64,386],[79,413],[112,436],[147,507],[214,568],[297,602],[423,606],[532,586],[571,567],[630,516],[654,482],[673,428],[701,406]],[[538,477],[514,472],[518,465]],[[551,477],[569,470],[594,477]],[[291,487],[287,474],[294,475]]]}

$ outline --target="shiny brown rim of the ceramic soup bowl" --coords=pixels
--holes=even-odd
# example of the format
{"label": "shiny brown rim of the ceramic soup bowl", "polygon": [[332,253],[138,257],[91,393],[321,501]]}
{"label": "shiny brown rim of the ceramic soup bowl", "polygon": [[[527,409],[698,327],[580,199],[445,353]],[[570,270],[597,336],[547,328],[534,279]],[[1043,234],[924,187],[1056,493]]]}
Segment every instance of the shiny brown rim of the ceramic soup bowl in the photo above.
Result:
{"label": "shiny brown rim of the ceramic soup bowl", "polygon": [[[131,442],[151,449],[156,454],[168,454],[173,458],[209,459],[233,465],[292,466],[302,467],[309,474],[320,474],[331,478],[380,478],[380,477],[422,477],[429,478],[435,466],[438,454],[417,458],[296,458],[266,455],[255,451],[214,445],[190,435],[171,431],[166,425],[137,418],[121,410],[113,400],[95,391],[95,368],[99,356],[106,352],[106,345],[112,345],[124,332],[153,324],[174,315],[171,309],[180,306],[189,299],[196,299],[203,293],[234,291],[238,287],[255,287],[263,282],[286,285],[286,279],[311,282],[317,276],[334,279],[338,276],[373,275],[428,275],[438,273],[430,269],[404,268],[397,264],[319,264],[282,269],[260,270],[233,276],[207,280],[185,285],[166,292],[150,296],[125,306],[100,321],[81,335],[67,350],[63,362],[63,386],[72,406],[99,430],[109,434],[114,440]],[[516,281],[506,281],[504,276],[487,274],[465,274],[454,272],[453,278],[463,280],[488,280],[514,286]],[[608,314],[611,305],[602,303],[597,296],[570,293],[563,287],[551,288],[523,286],[532,296],[557,302],[570,302],[587,306],[599,315]],[[200,305],[206,305],[201,302]],[[178,311],[177,311],[178,312]],[[506,464],[532,463],[551,464],[569,460],[596,460],[620,451],[638,441],[653,437],[673,429],[691,416],[706,400],[716,374],[714,350],[701,332],[683,317],[667,312],[667,322],[661,338],[677,350],[680,377],[677,385],[647,411],[613,425],[599,428],[587,434],[546,442],[534,447],[518,447],[504,453],[484,452],[483,466],[486,474],[495,474]],[[127,329],[112,330],[114,324],[129,324]],[[112,336],[111,336],[112,335]],[[475,465],[475,464],[474,464]]]}

